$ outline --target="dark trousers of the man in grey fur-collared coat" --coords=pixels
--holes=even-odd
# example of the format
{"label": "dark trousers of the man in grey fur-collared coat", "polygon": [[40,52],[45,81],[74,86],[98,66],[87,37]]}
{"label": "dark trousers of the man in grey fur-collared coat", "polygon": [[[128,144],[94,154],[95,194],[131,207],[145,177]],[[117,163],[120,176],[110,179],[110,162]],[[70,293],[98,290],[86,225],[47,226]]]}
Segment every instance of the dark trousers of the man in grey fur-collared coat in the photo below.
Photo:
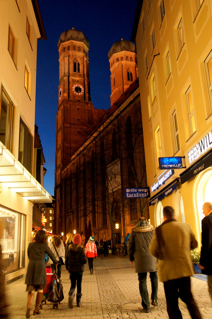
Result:
{"label": "dark trousers of the man in grey fur-collared coat", "polygon": [[[149,293],[147,290],[146,284],[147,272],[139,272],[138,273],[138,281],[139,281],[139,291],[141,295],[141,305],[144,309],[150,308],[150,300]],[[158,290],[158,278],[157,271],[150,272],[150,280],[152,286],[151,300],[157,301],[157,290]]]}

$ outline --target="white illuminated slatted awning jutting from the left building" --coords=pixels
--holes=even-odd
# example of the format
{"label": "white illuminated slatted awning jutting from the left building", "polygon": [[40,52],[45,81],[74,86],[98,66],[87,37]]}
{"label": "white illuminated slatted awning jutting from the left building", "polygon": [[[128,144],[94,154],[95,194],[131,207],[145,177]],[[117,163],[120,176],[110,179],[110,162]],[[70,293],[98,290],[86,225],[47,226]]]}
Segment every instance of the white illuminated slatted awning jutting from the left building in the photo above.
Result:
{"label": "white illuminated slatted awning jutting from the left building", "polygon": [[52,197],[0,142],[0,183],[32,203],[52,203]]}

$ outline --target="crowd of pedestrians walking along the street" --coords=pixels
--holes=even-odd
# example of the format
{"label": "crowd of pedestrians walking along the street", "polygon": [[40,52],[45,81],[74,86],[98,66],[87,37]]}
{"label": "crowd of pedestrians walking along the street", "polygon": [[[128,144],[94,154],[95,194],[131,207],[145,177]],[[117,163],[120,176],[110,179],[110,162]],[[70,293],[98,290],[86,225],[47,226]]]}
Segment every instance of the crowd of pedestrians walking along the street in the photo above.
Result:
{"label": "crowd of pedestrians walking along the street", "polygon": [[[182,314],[178,306],[178,298],[186,303],[188,311],[193,319],[200,319],[201,314],[191,293],[190,276],[194,275],[190,250],[197,247],[197,241],[191,226],[178,222],[175,219],[174,209],[171,206],[164,207],[164,222],[155,230],[144,218],[140,218],[127,234],[125,243],[128,247],[128,256],[135,272],[138,273],[139,291],[142,298],[143,312],[150,312],[157,306],[158,277],[164,284],[167,313],[170,319],[180,319]],[[203,205],[202,219],[202,248],[200,268],[202,273],[208,276],[208,291],[212,300],[212,203]],[[0,227],[1,232],[1,227]],[[81,307],[82,278],[84,264],[89,265],[90,274],[93,274],[93,259],[97,257],[97,247],[104,250],[104,256],[108,255],[111,241],[101,238],[99,243],[91,236],[86,245],[79,234],[73,236],[66,234],[66,246],[59,236],[55,236],[47,243],[47,235],[44,230],[39,230],[34,241],[29,243],[27,254],[29,263],[26,272],[27,308],[26,318],[30,318],[34,293],[36,294],[33,315],[40,314],[40,302],[43,297],[43,289],[47,283],[46,267],[56,271],[61,277],[61,264],[65,264],[69,272],[71,286],[69,290],[68,305],[73,308],[75,289],[77,287],[77,307]],[[84,247],[83,247],[84,246]],[[45,262],[44,262],[45,261]],[[0,246],[0,268],[1,268]],[[151,306],[147,289],[147,273],[150,273],[151,281]],[[2,272],[0,272],[0,316],[7,318],[8,311],[4,294]]]}

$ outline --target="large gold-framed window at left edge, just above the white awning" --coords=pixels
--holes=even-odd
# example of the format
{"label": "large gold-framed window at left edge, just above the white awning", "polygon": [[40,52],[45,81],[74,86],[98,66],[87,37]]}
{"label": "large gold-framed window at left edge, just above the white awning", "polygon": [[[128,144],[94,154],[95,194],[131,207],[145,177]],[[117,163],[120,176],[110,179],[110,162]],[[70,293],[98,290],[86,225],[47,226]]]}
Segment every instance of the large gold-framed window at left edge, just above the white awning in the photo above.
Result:
{"label": "large gold-framed window at left edge, just above the white awning", "polygon": [[0,107],[0,141],[12,153],[15,107],[3,86],[1,86]]}

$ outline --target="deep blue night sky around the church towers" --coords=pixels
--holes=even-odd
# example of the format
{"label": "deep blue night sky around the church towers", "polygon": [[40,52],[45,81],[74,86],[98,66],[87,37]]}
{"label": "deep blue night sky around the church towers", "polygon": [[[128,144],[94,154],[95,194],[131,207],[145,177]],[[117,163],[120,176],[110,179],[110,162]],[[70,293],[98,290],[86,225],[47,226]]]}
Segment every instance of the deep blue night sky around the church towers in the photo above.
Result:
{"label": "deep blue night sky around the church towers", "polygon": [[39,0],[47,40],[38,40],[35,123],[46,160],[44,188],[51,195],[55,184],[60,35],[74,27],[88,38],[91,102],[94,108],[108,109],[111,94],[108,51],[121,38],[130,41],[136,4],[136,0]]}

